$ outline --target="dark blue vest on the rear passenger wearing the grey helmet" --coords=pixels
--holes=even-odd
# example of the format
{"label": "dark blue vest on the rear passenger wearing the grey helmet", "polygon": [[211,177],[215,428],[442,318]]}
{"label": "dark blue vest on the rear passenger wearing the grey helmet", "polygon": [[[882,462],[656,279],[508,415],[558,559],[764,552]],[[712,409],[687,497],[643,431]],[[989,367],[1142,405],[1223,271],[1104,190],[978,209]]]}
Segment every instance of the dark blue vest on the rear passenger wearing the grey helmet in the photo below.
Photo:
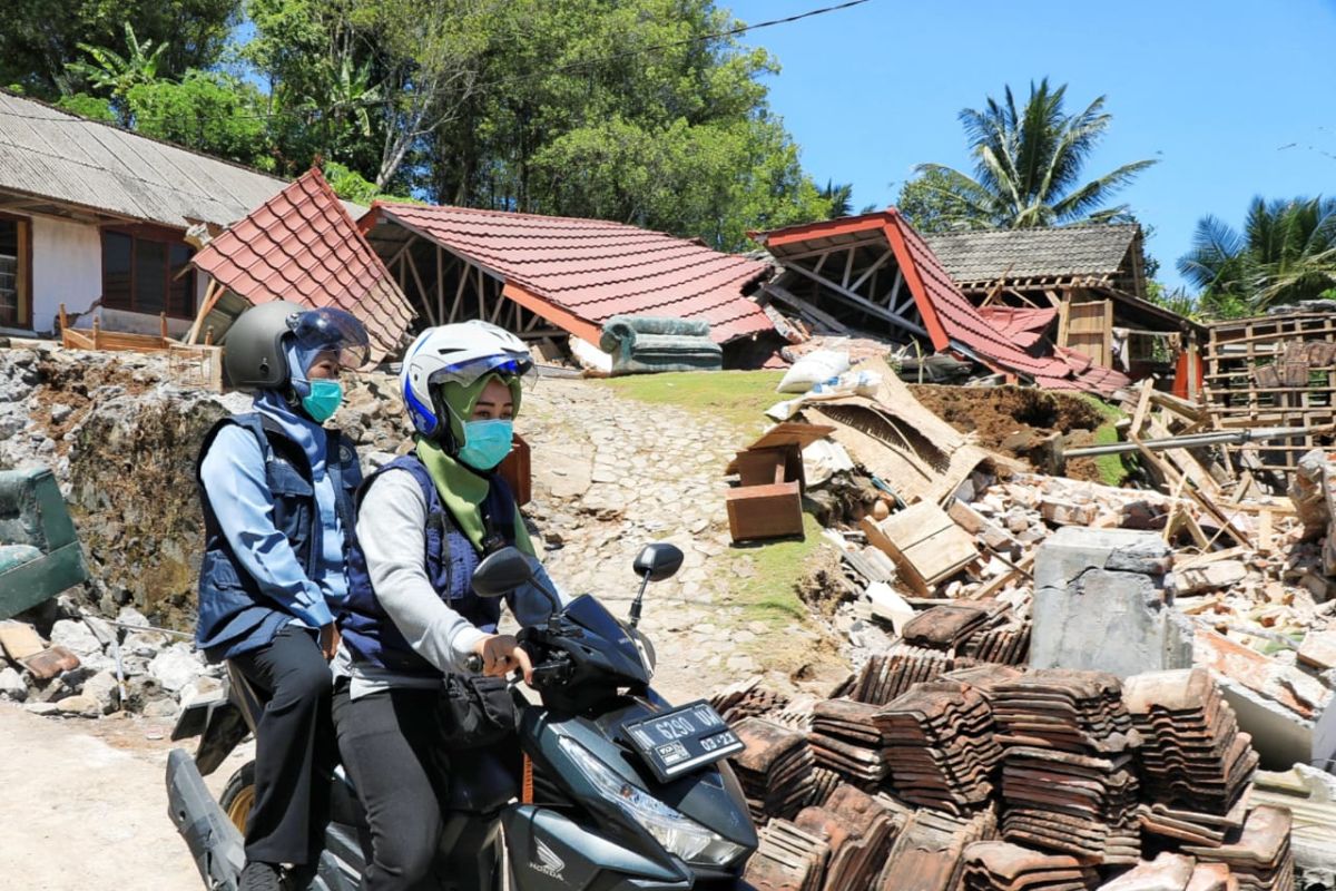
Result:
{"label": "dark blue vest on the rear passenger wearing the grey helmet", "polygon": [[[200,480],[199,468],[218,433],[235,423],[254,434],[265,454],[265,480],[274,496],[274,528],[287,538],[297,560],[314,572],[315,548],[321,537],[321,512],[315,504],[315,488],[306,452],[293,442],[283,430],[259,413],[223,418],[204,435],[195,461],[195,484],[204,508],[204,560],[199,566],[199,621],[195,625],[195,647],[204,651],[211,663],[231,659],[258,649],[274,640],[274,635],[293,620],[278,601],[270,600],[259,584],[236,560],[227,536],[208,502],[208,493]],[[345,552],[353,544],[353,500],[362,482],[362,469],[357,450],[338,430],[326,430],[327,454],[325,468],[334,484],[334,504],[343,526]]]}

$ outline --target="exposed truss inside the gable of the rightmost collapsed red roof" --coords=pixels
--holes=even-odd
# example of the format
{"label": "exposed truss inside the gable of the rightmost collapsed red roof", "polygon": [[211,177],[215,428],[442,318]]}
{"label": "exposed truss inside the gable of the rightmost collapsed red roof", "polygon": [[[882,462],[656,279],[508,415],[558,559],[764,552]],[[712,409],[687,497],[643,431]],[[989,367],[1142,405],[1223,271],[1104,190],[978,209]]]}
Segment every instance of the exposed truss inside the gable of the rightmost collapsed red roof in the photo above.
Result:
{"label": "exposed truss inside the gable of the rightmost collapsed red roof", "polygon": [[824,327],[860,327],[870,333],[890,326],[892,339],[927,337],[923,317],[895,252],[878,232],[875,239],[832,244],[778,256],[786,275],[767,289]]}

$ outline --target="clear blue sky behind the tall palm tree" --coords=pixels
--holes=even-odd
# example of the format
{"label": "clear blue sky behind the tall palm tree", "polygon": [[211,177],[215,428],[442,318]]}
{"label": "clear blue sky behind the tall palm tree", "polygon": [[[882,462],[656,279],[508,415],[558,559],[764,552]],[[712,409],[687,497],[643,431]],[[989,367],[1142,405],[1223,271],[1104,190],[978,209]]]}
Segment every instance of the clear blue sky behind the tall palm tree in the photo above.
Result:
{"label": "clear blue sky behind the tall palm tree", "polygon": [[[827,4],[720,5],[755,23]],[[957,112],[1043,76],[1070,111],[1108,96],[1092,175],[1160,159],[1120,199],[1172,287],[1201,216],[1237,228],[1253,195],[1336,195],[1336,0],[871,0],[743,40],[778,57],[771,107],[855,210],[894,203],[916,163],[969,171]]]}

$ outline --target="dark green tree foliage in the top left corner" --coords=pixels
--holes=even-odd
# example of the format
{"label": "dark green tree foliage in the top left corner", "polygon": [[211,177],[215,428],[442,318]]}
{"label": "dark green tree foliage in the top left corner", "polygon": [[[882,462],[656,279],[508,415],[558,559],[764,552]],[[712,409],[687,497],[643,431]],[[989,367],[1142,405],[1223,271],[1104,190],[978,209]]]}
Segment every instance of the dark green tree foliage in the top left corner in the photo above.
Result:
{"label": "dark green tree foliage in the top left corner", "polygon": [[9,0],[0,16],[0,83],[47,100],[87,92],[91,84],[65,65],[87,59],[81,44],[131,55],[127,21],[144,44],[170,44],[156,76],[179,77],[222,59],[239,13],[240,0]]}

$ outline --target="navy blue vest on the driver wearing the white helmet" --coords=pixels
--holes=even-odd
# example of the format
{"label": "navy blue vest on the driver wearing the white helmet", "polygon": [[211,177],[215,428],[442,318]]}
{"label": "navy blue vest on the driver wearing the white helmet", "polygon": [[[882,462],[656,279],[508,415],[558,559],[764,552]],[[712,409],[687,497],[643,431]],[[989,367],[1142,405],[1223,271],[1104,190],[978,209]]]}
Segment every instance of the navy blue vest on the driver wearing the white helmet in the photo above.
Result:
{"label": "navy blue vest on the driver wearing the white helmet", "polygon": [[[426,577],[432,588],[450,609],[464,616],[472,625],[488,633],[494,633],[501,620],[500,598],[478,597],[473,593],[473,570],[477,569],[481,554],[473,542],[461,533],[441,502],[441,496],[432,482],[426,466],[414,454],[406,454],[389,462],[370,477],[358,492],[358,504],[370,489],[377,476],[390,469],[407,470],[413,474],[422,498],[426,501],[426,529],[424,530],[424,557]],[[514,544],[516,508],[514,496],[501,477],[492,476],[484,517],[492,518],[492,526],[505,544]],[[366,572],[366,556],[355,541],[347,557],[347,598],[338,616],[339,632],[353,659],[402,675],[441,677],[432,663],[409,647],[407,640],[394,621],[381,606],[371,577]]]}

